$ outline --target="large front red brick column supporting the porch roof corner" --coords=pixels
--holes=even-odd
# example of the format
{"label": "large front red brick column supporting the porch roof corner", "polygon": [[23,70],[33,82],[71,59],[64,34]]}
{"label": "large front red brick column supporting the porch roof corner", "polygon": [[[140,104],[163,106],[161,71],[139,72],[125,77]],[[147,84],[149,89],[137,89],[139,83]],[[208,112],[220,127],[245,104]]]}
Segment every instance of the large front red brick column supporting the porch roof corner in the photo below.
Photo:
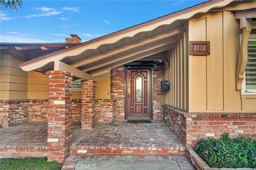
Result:
{"label": "large front red brick column supporting the porch roof corner", "polygon": [[63,163],[71,145],[72,73],[48,71],[47,159]]}

